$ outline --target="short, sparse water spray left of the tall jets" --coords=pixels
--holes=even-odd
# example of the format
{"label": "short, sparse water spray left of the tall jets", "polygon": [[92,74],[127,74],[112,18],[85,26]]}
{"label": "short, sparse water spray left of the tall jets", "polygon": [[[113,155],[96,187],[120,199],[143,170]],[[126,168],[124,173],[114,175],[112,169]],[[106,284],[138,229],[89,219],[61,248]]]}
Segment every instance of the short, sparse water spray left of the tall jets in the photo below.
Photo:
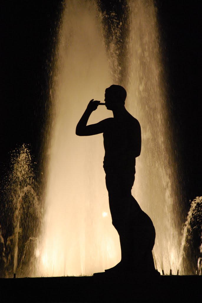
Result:
{"label": "short, sparse water spray left of the tall jets", "polygon": [[40,232],[42,213],[31,156],[26,146],[23,145],[13,152],[11,166],[4,191],[9,230],[3,251],[1,246],[0,274],[7,278],[16,273],[18,277],[36,276],[37,236]]}

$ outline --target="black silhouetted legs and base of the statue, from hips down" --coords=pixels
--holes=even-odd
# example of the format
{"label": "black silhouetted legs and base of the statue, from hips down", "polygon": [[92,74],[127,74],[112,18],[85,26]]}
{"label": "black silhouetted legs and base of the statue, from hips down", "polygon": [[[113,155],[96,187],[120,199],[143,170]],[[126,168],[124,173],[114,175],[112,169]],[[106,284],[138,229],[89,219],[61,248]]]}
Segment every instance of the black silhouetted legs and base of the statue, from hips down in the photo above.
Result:
{"label": "black silhouetted legs and base of the statue, from hips down", "polygon": [[156,271],[152,256],[155,228],[131,195],[133,182],[133,174],[106,174],[112,224],[119,234],[121,246],[120,263],[108,271],[153,273]]}

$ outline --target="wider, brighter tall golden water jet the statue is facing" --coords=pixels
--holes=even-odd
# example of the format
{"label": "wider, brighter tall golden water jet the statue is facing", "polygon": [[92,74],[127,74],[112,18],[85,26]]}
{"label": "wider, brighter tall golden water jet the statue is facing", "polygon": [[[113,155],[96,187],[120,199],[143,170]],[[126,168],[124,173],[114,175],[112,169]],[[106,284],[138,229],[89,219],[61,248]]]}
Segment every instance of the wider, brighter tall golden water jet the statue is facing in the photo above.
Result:
{"label": "wider, brighter tall golden water jet the statue is facing", "polygon": [[[75,127],[87,103],[104,100],[111,79],[95,2],[66,2],[52,88],[41,274],[90,275],[120,260],[102,168],[102,135],[78,138]],[[109,114],[103,107],[89,123]]]}

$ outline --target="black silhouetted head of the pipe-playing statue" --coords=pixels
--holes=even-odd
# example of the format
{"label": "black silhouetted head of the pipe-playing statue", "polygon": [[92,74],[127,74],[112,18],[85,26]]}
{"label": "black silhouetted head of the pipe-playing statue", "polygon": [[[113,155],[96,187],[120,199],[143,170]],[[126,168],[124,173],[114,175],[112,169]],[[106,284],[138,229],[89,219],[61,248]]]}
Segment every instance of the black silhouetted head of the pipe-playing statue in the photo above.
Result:
{"label": "black silhouetted head of the pipe-playing statue", "polygon": [[107,109],[113,110],[116,107],[124,106],[126,100],[126,90],[120,85],[111,85],[105,89],[105,105]]}

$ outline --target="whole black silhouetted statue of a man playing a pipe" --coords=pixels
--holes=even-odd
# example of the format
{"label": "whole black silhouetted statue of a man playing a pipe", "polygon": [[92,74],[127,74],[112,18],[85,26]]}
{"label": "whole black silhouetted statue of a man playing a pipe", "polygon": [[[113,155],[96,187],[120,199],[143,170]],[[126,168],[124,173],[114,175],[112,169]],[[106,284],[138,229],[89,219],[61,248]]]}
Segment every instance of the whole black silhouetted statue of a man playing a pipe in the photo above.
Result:
{"label": "whole black silhouetted statue of a man playing a pipe", "polygon": [[141,128],[136,118],[125,108],[126,90],[111,85],[105,90],[105,106],[114,118],[87,125],[91,113],[100,101],[89,102],[76,127],[76,135],[103,133],[104,171],[109,195],[112,224],[120,237],[121,261],[106,273],[155,273],[152,248],[155,229],[151,219],[139,207],[131,194],[135,180],[135,161],[141,151]]}

